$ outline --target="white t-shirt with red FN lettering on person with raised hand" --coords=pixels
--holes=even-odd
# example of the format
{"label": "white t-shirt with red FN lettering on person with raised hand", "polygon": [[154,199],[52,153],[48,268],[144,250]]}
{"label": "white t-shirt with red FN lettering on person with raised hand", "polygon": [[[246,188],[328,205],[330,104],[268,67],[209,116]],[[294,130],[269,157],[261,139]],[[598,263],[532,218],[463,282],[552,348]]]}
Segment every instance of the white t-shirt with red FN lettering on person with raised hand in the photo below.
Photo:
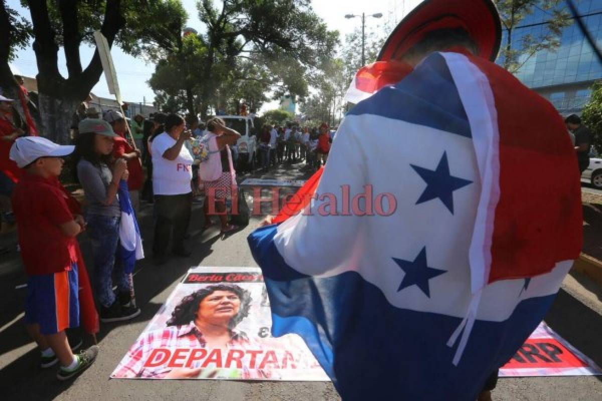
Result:
{"label": "white t-shirt with red FN lettering on person with raised hand", "polygon": [[167,160],[163,153],[176,144],[167,132],[152,141],[152,189],[155,195],[181,195],[191,192],[193,158],[182,145],[175,160]]}

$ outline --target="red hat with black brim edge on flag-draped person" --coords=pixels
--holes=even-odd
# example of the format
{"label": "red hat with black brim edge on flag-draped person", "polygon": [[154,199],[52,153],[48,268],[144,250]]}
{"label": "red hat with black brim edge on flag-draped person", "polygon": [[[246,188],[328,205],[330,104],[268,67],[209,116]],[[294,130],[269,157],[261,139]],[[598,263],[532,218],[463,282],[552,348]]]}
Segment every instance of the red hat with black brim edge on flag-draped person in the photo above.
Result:
{"label": "red hat with black brim edge on flag-draped person", "polygon": [[479,56],[495,61],[501,42],[501,21],[491,0],[424,0],[386,40],[377,61],[399,59],[428,32],[463,28],[479,46]]}

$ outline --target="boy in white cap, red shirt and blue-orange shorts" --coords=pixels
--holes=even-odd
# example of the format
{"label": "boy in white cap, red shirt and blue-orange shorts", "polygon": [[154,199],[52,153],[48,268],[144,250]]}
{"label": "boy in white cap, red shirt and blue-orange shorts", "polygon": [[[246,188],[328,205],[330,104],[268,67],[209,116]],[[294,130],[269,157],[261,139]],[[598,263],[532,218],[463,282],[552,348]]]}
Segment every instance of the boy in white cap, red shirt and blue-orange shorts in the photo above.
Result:
{"label": "boy in white cap, red shirt and blue-orange shorts", "polygon": [[42,367],[57,360],[57,379],[73,378],[98,355],[92,346],[73,355],[66,328],[79,326],[78,254],[75,237],[85,227],[74,217],[66,194],[58,186],[63,156],[73,146],[60,146],[40,136],[18,138],[10,158],[25,171],[13,191],[13,209],[19,226],[19,245],[27,280],[25,323],[42,350]]}

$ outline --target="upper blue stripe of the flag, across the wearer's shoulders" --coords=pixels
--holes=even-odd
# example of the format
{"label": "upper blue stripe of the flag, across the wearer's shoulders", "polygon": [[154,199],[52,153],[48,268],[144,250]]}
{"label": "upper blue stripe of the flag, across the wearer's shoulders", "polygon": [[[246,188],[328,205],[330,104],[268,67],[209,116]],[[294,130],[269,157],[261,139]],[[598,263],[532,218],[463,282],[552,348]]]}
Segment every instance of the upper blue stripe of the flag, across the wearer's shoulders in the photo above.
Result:
{"label": "upper blue stripe of the flag, across the wearer's shoulders", "polygon": [[362,100],[349,115],[373,114],[471,138],[470,124],[445,59],[430,55],[394,86]]}

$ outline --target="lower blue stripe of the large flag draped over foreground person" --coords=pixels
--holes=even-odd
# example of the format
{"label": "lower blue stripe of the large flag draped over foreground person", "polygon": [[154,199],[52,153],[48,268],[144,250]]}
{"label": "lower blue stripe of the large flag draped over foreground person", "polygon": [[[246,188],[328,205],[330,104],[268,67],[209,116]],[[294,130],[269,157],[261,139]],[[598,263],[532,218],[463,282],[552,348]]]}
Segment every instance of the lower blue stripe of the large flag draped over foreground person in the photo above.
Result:
{"label": "lower blue stripe of the large flag draped over foreground person", "polygon": [[461,319],[394,307],[357,272],[299,274],[278,253],[275,234],[264,227],[248,239],[270,297],[272,333],[302,336],[346,401],[472,401],[554,299],[527,299],[503,322],[477,320],[456,367],[446,343]]}

